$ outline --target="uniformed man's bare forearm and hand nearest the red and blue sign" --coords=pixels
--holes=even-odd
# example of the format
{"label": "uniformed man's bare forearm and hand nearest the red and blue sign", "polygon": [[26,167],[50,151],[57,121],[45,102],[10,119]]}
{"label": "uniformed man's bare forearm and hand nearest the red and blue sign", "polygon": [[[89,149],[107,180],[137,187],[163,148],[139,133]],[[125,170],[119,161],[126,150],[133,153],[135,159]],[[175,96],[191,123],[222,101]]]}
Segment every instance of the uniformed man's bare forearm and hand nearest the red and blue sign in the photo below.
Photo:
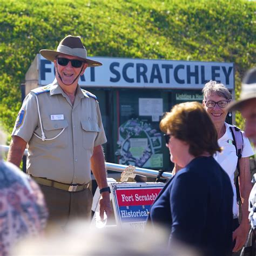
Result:
{"label": "uniformed man's bare forearm and hand nearest the red and blue sign", "polygon": [[[100,145],[93,148],[91,170],[97,181],[99,189],[107,187],[105,160],[103,149]],[[104,218],[104,211],[106,212],[107,216],[112,214],[110,194],[107,191],[102,193],[102,199],[99,201],[99,215],[102,220]]]}

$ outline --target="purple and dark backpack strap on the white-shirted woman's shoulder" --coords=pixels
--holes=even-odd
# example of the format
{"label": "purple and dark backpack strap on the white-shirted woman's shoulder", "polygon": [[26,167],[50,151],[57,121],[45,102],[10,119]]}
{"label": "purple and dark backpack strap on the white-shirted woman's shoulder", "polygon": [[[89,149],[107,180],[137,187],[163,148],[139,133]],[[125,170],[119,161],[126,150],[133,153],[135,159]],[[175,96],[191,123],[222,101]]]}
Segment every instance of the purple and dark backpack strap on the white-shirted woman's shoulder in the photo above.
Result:
{"label": "purple and dark backpack strap on the white-shirted woman's shoulder", "polygon": [[239,160],[242,157],[242,149],[244,147],[244,138],[242,137],[242,132],[237,126],[231,126],[230,131],[233,137],[233,145],[235,146],[235,151],[237,153],[237,171],[238,176],[235,178],[235,190],[237,191],[237,203],[241,204],[240,188],[239,188],[239,176],[240,176],[240,166]]}

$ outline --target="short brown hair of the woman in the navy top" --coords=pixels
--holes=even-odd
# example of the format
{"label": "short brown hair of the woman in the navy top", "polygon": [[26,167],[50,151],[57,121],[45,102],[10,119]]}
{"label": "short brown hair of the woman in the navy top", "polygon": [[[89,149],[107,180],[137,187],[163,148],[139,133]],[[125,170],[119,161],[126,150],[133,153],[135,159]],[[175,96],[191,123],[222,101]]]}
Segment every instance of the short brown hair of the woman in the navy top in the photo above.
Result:
{"label": "short brown hair of the woman in the navy top", "polygon": [[173,106],[171,112],[166,112],[161,120],[160,129],[165,133],[169,131],[172,136],[188,143],[189,153],[194,157],[204,152],[210,153],[211,156],[216,151],[221,152],[212,120],[198,102]]}

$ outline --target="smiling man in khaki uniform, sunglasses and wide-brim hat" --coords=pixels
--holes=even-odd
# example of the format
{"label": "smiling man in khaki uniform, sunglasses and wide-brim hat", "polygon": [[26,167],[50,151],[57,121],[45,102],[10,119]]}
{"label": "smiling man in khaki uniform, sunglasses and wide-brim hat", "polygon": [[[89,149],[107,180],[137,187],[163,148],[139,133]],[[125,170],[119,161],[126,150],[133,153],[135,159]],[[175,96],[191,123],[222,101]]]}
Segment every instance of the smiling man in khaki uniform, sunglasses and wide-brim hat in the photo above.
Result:
{"label": "smiling man in khaki uniform, sunglasses and wide-brim hat", "polygon": [[8,154],[20,165],[28,144],[27,172],[44,192],[50,221],[91,216],[91,170],[102,194],[100,217],[112,213],[102,144],[106,143],[97,98],[80,89],[78,79],[90,66],[79,37],[67,36],[57,51],[41,50],[54,62],[56,79],[32,90],[18,113]]}

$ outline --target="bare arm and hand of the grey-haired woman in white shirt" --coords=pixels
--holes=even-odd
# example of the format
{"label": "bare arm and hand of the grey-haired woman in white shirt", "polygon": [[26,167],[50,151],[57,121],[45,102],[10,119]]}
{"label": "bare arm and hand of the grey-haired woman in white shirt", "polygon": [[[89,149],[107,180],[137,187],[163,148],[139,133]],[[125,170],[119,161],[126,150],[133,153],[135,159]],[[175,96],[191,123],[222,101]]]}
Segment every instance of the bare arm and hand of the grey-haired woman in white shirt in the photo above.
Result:
{"label": "bare arm and hand of the grey-haired woman in white shirt", "polygon": [[248,199],[250,191],[252,190],[250,162],[249,157],[244,157],[239,160],[240,175],[239,188],[241,196],[241,223],[239,227],[233,232],[233,240],[235,239],[235,246],[233,252],[239,251],[244,246],[247,238],[250,224],[248,220]]}

